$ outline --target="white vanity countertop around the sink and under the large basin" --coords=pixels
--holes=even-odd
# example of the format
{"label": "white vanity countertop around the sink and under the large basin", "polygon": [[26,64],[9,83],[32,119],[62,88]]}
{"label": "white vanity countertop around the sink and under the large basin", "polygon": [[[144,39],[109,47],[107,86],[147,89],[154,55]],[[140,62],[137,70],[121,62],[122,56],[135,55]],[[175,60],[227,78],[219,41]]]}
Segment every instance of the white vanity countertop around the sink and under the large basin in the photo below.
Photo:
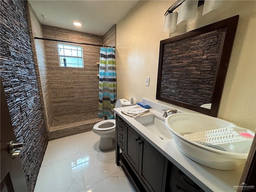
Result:
{"label": "white vanity countertop around the sink and under the large basin", "polygon": [[[121,112],[131,107],[134,106],[115,108],[114,111],[203,190],[206,192],[233,192],[237,190],[237,188],[233,188],[233,186],[239,185],[245,163],[234,170],[217,170],[198,164],[182,154],[182,152],[176,148],[173,140],[165,141],[160,139],[156,134],[134,120],[133,117],[127,116]],[[162,113],[154,109],[150,109],[150,112],[144,115],[149,114],[162,116]]]}

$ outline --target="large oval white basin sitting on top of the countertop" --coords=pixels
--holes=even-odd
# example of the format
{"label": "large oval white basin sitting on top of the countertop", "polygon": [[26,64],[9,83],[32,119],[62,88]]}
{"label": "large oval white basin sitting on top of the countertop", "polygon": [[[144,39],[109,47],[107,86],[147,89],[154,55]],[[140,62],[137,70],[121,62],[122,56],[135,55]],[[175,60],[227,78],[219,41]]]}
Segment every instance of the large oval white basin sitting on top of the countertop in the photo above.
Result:
{"label": "large oval white basin sitting on top of the countertop", "polygon": [[[184,137],[184,135],[219,128],[234,128],[242,130],[245,135],[251,134],[252,137],[254,136],[251,130],[240,128],[231,122],[207,115],[172,114],[166,118],[165,123],[172,132],[173,140],[180,152],[200,164],[220,170],[231,170],[242,164],[247,159],[253,138],[246,138],[246,142],[243,143],[222,141],[222,144],[227,146],[225,151],[222,151],[199,144]],[[241,136],[239,135],[239,137]]]}

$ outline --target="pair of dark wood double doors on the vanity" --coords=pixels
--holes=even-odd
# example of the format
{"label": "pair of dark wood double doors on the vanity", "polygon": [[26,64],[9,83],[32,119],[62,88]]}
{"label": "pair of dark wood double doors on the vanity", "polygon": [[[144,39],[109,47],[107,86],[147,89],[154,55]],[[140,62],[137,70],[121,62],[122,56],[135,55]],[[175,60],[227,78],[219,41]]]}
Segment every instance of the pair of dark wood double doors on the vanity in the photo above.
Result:
{"label": "pair of dark wood double doors on the vanity", "polygon": [[149,191],[165,191],[165,157],[126,124],[125,156]]}

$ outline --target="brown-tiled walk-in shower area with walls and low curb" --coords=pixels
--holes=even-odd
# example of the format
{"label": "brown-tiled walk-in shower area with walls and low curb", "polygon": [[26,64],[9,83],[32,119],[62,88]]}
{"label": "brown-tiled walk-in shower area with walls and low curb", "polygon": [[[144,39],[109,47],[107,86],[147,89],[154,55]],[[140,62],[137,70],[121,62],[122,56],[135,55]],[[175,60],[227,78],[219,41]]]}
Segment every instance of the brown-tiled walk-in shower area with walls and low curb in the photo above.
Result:
{"label": "brown-tiled walk-in shower area with walls and low curb", "polygon": [[[94,124],[104,120],[98,117],[100,46],[95,45],[115,47],[116,25],[104,36],[99,36],[44,26],[36,19],[30,20],[30,36],[48,139],[92,130]],[[81,46],[84,67],[60,66],[58,44]]]}

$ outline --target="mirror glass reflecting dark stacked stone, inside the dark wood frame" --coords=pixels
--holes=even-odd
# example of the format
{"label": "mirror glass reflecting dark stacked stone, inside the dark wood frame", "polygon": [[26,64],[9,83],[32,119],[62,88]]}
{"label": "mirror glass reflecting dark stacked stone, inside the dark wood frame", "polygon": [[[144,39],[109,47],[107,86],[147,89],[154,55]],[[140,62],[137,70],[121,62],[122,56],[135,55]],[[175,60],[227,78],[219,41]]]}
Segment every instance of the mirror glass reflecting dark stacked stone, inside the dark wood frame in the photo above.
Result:
{"label": "mirror glass reflecting dark stacked stone, inside the dark wood frame", "polygon": [[201,106],[212,90],[225,29],[164,45],[160,96]]}

